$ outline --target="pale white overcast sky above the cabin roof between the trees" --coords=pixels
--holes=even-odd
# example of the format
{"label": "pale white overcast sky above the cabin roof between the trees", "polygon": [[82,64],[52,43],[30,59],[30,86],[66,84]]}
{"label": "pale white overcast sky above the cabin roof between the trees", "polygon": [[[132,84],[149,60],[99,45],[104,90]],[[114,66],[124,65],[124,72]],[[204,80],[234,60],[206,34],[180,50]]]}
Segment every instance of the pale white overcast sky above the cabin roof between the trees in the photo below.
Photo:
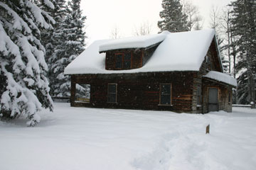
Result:
{"label": "pale white overcast sky above the cabin roof between the trees", "polygon": [[[189,1],[189,0],[187,0]],[[211,6],[225,6],[231,0],[190,0],[199,7],[204,18],[204,28],[208,28]],[[122,37],[133,36],[135,28],[142,23],[151,24],[151,33],[157,33],[161,0],[82,0],[81,8],[87,16],[85,29],[87,44],[94,40],[110,38],[112,30],[118,28]]]}

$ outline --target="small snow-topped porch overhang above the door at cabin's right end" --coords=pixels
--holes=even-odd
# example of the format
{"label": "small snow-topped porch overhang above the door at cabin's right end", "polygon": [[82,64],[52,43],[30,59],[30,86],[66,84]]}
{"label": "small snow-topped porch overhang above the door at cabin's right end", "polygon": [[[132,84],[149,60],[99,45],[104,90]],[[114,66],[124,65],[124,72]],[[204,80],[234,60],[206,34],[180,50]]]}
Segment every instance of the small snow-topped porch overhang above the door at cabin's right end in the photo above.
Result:
{"label": "small snow-topped porch overhang above the door at cabin's right end", "polygon": [[218,84],[223,84],[225,86],[232,86],[233,88],[238,86],[237,80],[235,78],[222,72],[210,71],[203,76],[203,79],[213,81]]}

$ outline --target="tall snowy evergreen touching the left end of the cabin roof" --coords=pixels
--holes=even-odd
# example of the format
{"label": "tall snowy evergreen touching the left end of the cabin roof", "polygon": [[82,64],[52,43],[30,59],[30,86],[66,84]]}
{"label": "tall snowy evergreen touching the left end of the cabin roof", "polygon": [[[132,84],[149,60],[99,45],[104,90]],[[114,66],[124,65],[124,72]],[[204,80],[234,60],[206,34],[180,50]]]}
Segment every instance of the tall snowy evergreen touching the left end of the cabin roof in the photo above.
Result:
{"label": "tall snowy evergreen touching the left end of the cabin roof", "polygon": [[[53,54],[48,61],[50,65],[51,89],[53,96],[70,96],[70,77],[64,75],[65,67],[85,50],[85,16],[80,10],[80,0],[68,2],[63,8],[64,1],[58,1],[62,17],[58,16],[55,32],[53,33]],[[65,10],[64,10],[65,9]],[[85,88],[78,86],[78,93],[85,93]]]}

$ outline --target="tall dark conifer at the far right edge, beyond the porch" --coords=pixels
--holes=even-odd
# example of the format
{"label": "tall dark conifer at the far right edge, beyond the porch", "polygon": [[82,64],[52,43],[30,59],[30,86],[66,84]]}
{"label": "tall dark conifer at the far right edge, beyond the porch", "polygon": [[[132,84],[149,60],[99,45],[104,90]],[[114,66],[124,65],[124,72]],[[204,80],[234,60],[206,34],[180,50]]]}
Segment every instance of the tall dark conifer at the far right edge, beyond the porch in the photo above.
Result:
{"label": "tall dark conifer at the far right edge, beyond the porch", "polygon": [[256,81],[256,2],[255,0],[236,0],[231,2],[232,33],[237,36],[238,45],[238,100],[248,104],[255,98]]}

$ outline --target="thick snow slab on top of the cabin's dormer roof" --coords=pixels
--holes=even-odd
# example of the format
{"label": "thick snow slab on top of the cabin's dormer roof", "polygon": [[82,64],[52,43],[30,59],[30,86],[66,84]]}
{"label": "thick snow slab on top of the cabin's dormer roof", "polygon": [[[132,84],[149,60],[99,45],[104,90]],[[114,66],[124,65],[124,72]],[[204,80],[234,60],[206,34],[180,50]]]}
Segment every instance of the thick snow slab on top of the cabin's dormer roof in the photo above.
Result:
{"label": "thick snow slab on top of the cabin's dormer roof", "polygon": [[145,48],[156,43],[162,42],[166,35],[168,35],[169,31],[164,31],[162,33],[156,35],[143,35],[139,37],[132,38],[120,38],[117,40],[110,40],[108,42],[100,45],[100,52],[108,51],[108,50],[117,50],[124,48]]}

